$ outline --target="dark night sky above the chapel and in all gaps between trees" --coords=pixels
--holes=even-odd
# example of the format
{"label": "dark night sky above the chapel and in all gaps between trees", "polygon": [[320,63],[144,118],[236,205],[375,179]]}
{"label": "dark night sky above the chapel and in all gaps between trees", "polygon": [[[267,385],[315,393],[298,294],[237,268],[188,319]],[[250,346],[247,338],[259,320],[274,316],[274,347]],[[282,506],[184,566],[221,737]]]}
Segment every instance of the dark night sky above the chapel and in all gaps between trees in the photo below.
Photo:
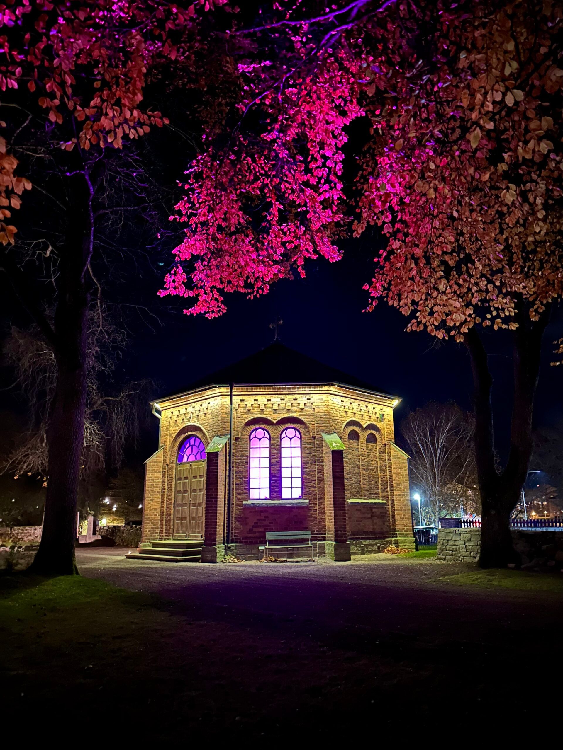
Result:
{"label": "dark night sky above the chapel and in all gaps between trees", "polygon": [[[160,89],[153,93],[155,107],[166,110],[173,120],[179,113],[190,111],[190,100],[182,98],[181,93],[166,101]],[[345,148],[348,186],[354,184],[355,147],[366,136],[365,127],[363,122],[354,124]],[[119,311],[118,317],[122,317],[130,336],[119,377],[152,378],[157,383],[155,398],[184,389],[206,374],[266,347],[274,335],[269,324],[279,316],[283,320],[283,344],[402,398],[396,410],[399,424],[407,410],[430,400],[456,401],[464,409],[471,409],[471,370],[462,345],[440,342],[426,333],[406,333],[408,320],[384,300],[372,313],[363,312],[368,293],[362,287],[371,280],[373,259],[385,242],[377,228],[366,231],[360,239],[343,241],[344,257],[339,263],[309,261],[305,279],[280,281],[267,296],[248,300],[239,294],[227,295],[227,313],[215,320],[182,314],[181,299],[158,298],[164,275],[173,262],[172,249],[182,239],[182,225],[168,222],[167,216],[182,195],[177,180],[182,178],[194,151],[189,139],[179,138],[176,131],[167,128],[155,129],[140,148],[146,148],[143,153],[149,157],[149,174],[158,183],[157,193],[161,191],[160,229],[143,225],[143,218],[136,217],[125,224],[119,235],[119,246],[126,251],[123,257],[114,254],[107,263],[104,252],[97,252],[93,260],[96,274],[104,279],[104,299],[110,305],[125,303],[123,308],[110,308]],[[32,190],[26,195],[18,216],[23,239],[34,236],[35,231],[44,231],[42,224],[50,225],[49,206],[41,204],[41,193]],[[164,239],[155,245],[157,234]],[[38,269],[28,264],[26,272],[32,278]],[[41,281],[41,269],[39,277],[32,282],[39,298],[52,300],[52,287],[47,278]],[[137,313],[133,305],[148,312]],[[11,323],[29,326],[31,321],[6,279],[0,278],[0,337]],[[563,419],[563,368],[549,367],[552,342],[557,338],[563,338],[561,308],[553,314],[543,340],[536,428],[552,426]],[[490,366],[495,379],[497,448],[504,454],[511,409],[510,335],[490,333],[484,341],[492,355]],[[4,389],[0,391],[0,414],[14,409],[23,414],[23,404],[14,399],[14,391],[5,390],[13,382],[7,368],[0,371],[0,381]]]}

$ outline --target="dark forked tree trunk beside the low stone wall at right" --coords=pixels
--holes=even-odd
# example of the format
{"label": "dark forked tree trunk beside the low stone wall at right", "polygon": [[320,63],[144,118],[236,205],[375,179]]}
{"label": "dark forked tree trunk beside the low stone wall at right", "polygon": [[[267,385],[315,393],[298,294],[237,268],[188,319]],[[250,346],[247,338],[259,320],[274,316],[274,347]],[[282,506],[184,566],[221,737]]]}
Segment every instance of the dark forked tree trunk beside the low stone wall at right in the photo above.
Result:
{"label": "dark forked tree trunk beside the low stone wall at right", "polygon": [[519,326],[514,332],[514,400],[510,426],[510,452],[502,472],[495,467],[492,423],[492,377],[483,342],[475,328],[465,335],[474,380],[475,459],[482,506],[481,568],[504,568],[519,564],[510,533],[510,516],[519,501],[528,475],[533,440],[531,419],[540,371],[543,332],[549,310],[532,321],[521,301]]}

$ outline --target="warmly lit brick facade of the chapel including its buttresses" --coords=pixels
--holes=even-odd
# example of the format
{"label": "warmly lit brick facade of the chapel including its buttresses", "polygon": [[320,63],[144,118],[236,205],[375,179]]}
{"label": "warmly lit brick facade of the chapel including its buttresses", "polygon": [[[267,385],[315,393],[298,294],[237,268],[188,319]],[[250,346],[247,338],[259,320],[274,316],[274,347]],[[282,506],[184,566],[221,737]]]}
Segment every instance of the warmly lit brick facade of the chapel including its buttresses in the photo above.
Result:
{"label": "warmly lit brick facade of the chapel including its buttresses", "polygon": [[[206,386],[155,404],[160,447],[146,462],[143,541],[174,535],[178,452],[186,437],[197,435],[206,447],[212,443],[204,562],[221,559],[225,550],[257,559],[266,531],[309,530],[315,553],[333,559],[378,551],[389,540],[414,545],[408,458],[393,442],[394,397],[341,383],[232,389],[232,408],[230,386]],[[303,495],[296,499],[281,499],[280,434],[288,426],[301,435]],[[256,428],[271,437],[269,499],[250,499],[249,437]]]}

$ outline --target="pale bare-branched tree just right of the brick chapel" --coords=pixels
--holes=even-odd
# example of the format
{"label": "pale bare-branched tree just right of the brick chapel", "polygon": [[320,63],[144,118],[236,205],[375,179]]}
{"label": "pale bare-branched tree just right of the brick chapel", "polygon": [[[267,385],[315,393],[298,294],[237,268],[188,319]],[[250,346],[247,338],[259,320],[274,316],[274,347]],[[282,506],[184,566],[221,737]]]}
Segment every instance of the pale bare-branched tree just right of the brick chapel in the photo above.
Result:
{"label": "pale bare-branched tree just right of the brick chapel", "polygon": [[411,456],[411,484],[420,487],[432,521],[478,505],[471,415],[456,404],[430,402],[408,414],[400,433]]}

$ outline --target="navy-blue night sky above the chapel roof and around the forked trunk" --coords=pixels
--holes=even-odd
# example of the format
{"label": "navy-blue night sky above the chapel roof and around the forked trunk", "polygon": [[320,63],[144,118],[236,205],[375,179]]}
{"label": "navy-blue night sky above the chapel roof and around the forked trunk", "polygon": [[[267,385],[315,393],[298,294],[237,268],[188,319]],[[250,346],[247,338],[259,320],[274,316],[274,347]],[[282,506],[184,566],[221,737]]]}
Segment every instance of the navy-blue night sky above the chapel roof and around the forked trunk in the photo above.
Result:
{"label": "navy-blue night sky above the chapel roof and around the forked trunk", "polygon": [[[407,319],[384,301],[372,313],[363,312],[368,298],[362,285],[371,278],[377,248],[377,236],[351,240],[339,263],[310,262],[306,279],[281,281],[259,299],[227,296],[227,314],[215,320],[167,310],[155,334],[143,327],[138,330],[128,371],[132,377],[158,381],[158,395],[176,392],[267,346],[274,335],[269,324],[279,315],[283,344],[403,398],[396,410],[398,422],[408,409],[429,400],[453,400],[471,409],[471,371],[464,347],[438,342],[426,333],[405,332]],[[153,303],[152,310],[159,304]],[[163,300],[162,308],[166,304]],[[543,344],[538,427],[554,425],[563,416],[561,370],[549,367],[551,342],[560,336],[563,316],[558,311]],[[494,353],[496,429],[502,451],[511,406],[510,336],[490,334],[485,341]]]}

